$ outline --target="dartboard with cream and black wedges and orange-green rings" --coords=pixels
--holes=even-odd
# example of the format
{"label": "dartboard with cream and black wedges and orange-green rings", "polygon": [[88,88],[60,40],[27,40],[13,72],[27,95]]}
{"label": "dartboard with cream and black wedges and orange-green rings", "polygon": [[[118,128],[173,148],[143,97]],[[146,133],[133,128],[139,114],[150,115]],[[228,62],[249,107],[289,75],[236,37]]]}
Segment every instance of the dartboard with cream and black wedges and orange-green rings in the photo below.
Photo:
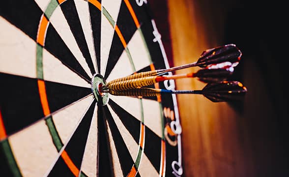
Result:
{"label": "dartboard with cream and black wedges and orange-green rings", "polygon": [[168,67],[146,0],[5,0],[0,27],[1,174],[182,175],[175,96],[98,91]]}

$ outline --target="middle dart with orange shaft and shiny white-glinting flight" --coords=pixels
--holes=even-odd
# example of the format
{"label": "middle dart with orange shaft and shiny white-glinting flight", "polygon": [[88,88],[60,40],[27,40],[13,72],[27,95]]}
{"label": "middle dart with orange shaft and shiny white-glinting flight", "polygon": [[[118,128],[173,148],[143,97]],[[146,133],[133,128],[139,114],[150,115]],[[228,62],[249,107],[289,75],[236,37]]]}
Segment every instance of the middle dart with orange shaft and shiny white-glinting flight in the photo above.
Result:
{"label": "middle dart with orange shaft and shiny white-glinting flight", "polygon": [[205,83],[224,81],[234,71],[231,62],[224,62],[218,64],[211,64],[204,69],[200,69],[196,73],[178,74],[169,76],[149,76],[137,79],[130,79],[126,81],[119,81],[114,83],[108,83],[103,89],[110,89],[114,91],[121,91],[127,89],[137,89],[145,86],[150,86],[158,82],[165,80],[175,80],[181,78],[193,78],[197,77],[200,81]]}

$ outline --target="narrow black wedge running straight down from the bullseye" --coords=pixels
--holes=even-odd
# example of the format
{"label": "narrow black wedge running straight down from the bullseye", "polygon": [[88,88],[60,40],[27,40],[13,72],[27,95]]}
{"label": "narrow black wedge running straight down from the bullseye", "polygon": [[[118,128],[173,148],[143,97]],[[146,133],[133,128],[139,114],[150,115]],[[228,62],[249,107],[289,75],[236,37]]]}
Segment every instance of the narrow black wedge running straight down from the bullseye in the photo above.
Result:
{"label": "narrow black wedge running straight down from the bullseye", "polygon": [[108,137],[106,118],[103,112],[102,101],[98,102],[97,110],[97,174],[98,177],[113,176],[113,162],[111,146]]}

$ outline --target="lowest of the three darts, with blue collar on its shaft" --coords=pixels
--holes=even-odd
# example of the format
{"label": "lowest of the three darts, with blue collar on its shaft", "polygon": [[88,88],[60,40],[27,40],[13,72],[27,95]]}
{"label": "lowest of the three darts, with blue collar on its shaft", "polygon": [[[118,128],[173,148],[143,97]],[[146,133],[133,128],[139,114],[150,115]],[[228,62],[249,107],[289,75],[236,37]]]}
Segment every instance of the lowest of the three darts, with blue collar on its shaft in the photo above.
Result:
{"label": "lowest of the three darts, with blue collar on its shaft", "polygon": [[229,102],[241,100],[247,92],[246,87],[237,81],[223,81],[220,83],[209,83],[202,90],[167,90],[139,88],[114,91],[109,90],[110,94],[116,96],[158,96],[162,94],[202,94],[212,102]]}

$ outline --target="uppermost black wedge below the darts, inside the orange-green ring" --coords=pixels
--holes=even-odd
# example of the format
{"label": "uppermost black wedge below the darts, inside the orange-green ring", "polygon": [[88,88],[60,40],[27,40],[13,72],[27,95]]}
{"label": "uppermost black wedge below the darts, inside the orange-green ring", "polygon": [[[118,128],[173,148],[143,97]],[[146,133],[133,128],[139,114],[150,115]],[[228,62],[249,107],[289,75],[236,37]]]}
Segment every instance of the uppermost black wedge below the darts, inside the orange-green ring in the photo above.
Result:
{"label": "uppermost black wedge below the darts, inside the orange-green ring", "polygon": [[138,144],[141,132],[141,121],[117,105],[112,99],[109,100],[109,105]]}

